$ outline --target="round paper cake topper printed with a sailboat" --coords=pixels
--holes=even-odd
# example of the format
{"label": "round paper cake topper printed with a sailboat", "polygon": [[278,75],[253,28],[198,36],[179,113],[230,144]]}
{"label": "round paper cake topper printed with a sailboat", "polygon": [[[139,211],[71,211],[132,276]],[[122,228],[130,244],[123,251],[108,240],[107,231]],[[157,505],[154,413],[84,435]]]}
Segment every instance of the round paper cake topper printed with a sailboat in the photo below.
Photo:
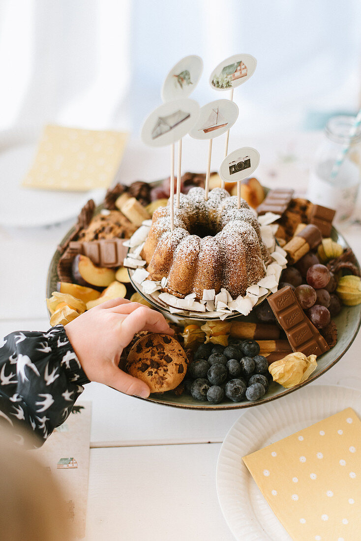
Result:
{"label": "round paper cake topper printed with a sailboat", "polygon": [[238,107],[231,100],[216,100],[206,103],[189,135],[195,139],[213,139],[224,134],[238,117]]}

